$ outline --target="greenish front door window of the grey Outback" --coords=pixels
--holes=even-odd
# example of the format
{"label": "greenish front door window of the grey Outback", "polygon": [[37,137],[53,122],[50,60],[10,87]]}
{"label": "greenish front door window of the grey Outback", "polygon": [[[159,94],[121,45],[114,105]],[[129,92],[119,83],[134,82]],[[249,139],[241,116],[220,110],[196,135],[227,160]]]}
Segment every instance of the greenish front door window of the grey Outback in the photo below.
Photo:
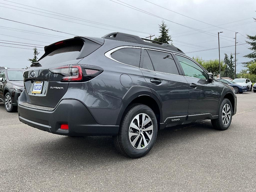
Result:
{"label": "greenish front door window of the grey Outback", "polygon": [[178,58],[180,65],[183,68],[185,76],[195,77],[199,79],[207,79],[204,70],[199,67],[195,62],[179,55],[176,55],[176,57]]}

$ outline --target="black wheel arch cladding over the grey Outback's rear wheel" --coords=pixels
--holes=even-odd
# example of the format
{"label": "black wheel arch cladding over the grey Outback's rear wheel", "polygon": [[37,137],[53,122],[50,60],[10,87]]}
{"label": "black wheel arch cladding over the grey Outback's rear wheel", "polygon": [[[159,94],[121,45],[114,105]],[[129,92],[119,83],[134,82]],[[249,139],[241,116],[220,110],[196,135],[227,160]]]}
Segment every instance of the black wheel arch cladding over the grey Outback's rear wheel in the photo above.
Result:
{"label": "black wheel arch cladding over the grey Outback's rear wheel", "polygon": [[119,125],[126,108],[133,103],[141,103],[149,106],[156,115],[157,123],[162,122],[162,105],[159,99],[152,93],[151,89],[142,86],[131,87],[122,99],[116,125]]}

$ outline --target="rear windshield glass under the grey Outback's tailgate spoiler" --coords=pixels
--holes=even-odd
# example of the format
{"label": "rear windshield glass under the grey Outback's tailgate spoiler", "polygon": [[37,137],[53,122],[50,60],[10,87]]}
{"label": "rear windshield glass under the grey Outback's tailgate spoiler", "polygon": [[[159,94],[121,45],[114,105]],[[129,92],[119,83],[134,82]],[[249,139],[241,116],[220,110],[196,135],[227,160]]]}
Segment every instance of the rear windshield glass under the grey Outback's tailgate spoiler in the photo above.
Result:
{"label": "rear windshield glass under the grey Outback's tailgate spoiler", "polygon": [[80,55],[83,45],[66,45],[52,51],[49,55],[39,60],[39,63],[44,65],[52,65],[65,61],[75,60]]}

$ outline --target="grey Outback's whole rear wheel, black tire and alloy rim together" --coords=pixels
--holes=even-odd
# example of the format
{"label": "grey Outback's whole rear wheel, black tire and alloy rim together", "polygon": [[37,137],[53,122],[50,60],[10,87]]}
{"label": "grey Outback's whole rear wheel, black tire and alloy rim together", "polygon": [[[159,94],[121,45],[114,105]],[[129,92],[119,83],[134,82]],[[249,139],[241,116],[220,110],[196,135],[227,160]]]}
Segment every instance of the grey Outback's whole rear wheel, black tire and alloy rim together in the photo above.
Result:
{"label": "grey Outback's whole rear wheel, black tire and alloy rim together", "polygon": [[139,158],[151,150],[156,135],[157,120],[152,109],[147,105],[133,104],[124,112],[114,144],[122,154]]}

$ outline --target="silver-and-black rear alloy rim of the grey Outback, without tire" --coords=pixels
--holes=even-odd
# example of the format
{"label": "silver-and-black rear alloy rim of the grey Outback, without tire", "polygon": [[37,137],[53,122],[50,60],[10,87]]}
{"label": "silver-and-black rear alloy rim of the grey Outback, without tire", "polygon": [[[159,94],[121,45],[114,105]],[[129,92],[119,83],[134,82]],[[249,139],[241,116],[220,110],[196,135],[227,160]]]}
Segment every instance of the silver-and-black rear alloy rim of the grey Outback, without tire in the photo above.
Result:
{"label": "silver-and-black rear alloy rim of the grey Outback, without tire", "polygon": [[145,148],[153,136],[153,123],[151,118],[140,113],[136,115],[129,127],[129,140],[131,145],[136,149]]}

